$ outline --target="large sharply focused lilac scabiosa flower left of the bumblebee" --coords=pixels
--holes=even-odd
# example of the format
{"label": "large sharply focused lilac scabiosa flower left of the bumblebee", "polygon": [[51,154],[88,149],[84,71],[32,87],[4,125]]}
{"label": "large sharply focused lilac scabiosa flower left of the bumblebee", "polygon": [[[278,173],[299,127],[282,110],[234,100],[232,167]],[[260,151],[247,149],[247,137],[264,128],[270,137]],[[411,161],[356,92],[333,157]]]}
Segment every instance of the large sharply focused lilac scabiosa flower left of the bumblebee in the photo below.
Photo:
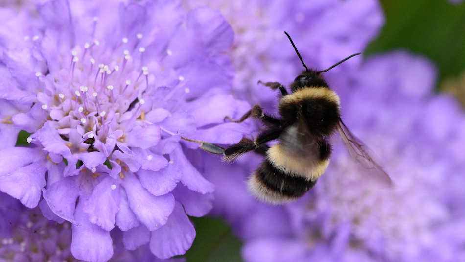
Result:
{"label": "large sharply focused lilac scabiosa flower left of the bumblebee", "polygon": [[[53,0],[8,19],[0,190],[69,221],[76,259],[109,260],[115,225],[129,250],[184,254],[195,237],[186,214],[209,212],[214,186],[181,135],[226,144],[245,132],[223,123],[247,110],[228,94],[229,24],[177,1]],[[20,130],[29,146],[15,146]]]}

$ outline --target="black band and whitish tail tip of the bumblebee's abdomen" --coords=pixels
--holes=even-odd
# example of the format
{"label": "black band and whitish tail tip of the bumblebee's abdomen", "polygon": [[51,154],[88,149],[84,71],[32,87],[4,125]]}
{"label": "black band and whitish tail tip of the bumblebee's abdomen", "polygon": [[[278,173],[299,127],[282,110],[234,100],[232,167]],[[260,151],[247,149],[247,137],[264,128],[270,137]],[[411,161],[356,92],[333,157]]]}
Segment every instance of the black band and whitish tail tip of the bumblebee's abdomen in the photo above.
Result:
{"label": "black band and whitish tail tip of the bumblebee's abdomen", "polygon": [[248,186],[259,199],[278,204],[301,197],[315,183],[316,180],[288,174],[265,160],[249,178]]}

